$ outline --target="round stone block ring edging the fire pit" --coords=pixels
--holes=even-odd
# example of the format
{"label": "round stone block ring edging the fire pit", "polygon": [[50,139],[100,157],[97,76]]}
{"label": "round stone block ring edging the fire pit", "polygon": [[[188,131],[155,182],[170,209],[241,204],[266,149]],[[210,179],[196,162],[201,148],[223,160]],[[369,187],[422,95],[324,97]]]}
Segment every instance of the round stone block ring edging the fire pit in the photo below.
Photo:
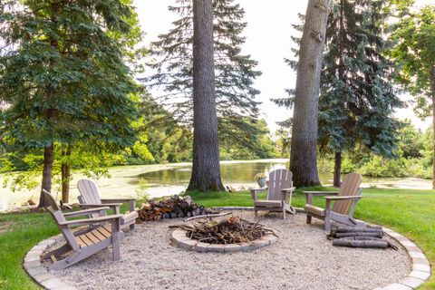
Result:
{"label": "round stone block ring edging the fire pit", "polygon": [[[275,231],[274,231],[275,232]],[[183,229],[175,229],[172,232],[170,241],[172,246],[183,248],[189,251],[197,251],[201,253],[236,253],[236,252],[250,252],[260,247],[267,247],[275,243],[278,238],[272,234],[267,234],[264,237],[258,238],[250,243],[242,244],[208,244],[199,242],[198,240],[191,239],[186,236],[186,231]]]}

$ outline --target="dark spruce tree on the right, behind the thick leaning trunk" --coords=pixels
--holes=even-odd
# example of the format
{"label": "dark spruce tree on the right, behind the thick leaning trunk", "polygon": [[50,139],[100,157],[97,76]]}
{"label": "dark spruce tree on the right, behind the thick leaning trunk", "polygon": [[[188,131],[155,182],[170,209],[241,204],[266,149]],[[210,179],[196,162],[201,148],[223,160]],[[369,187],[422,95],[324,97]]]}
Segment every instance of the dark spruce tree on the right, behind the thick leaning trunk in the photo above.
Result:
{"label": "dark spruce tree on the right, behind the thick leaning trunk", "polygon": [[[393,157],[400,122],[392,118],[402,106],[391,85],[394,63],[382,53],[385,1],[333,0],[328,17],[319,98],[318,145],[334,153],[333,185],[340,186],[344,151],[371,150]],[[304,20],[304,17],[301,16]],[[301,25],[294,25],[300,30]],[[293,37],[299,43],[297,37]],[[298,53],[295,49],[294,52]],[[292,67],[295,62],[288,61]],[[291,106],[290,98],[276,103]]]}

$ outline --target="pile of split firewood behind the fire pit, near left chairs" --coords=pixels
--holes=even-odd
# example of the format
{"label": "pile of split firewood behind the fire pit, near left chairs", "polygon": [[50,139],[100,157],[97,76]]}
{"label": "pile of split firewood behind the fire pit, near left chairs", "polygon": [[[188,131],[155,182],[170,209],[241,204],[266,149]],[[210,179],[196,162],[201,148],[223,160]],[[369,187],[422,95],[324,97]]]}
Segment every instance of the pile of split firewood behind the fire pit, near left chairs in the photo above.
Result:
{"label": "pile of split firewood behind the fire pit, near left chairs", "polygon": [[197,217],[215,213],[193,201],[189,196],[181,198],[175,195],[171,198],[156,201],[149,199],[138,210],[139,220],[160,220],[161,218]]}

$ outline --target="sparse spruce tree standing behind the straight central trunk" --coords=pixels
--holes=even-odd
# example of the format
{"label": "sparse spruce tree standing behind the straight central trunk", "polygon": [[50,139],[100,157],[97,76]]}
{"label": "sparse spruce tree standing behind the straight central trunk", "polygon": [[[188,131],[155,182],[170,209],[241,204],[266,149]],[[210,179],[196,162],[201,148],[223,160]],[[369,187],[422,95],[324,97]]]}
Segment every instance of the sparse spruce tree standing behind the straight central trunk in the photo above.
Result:
{"label": "sparse spruce tree standing behind the straight central trunk", "polygon": [[[157,100],[182,125],[193,122],[193,13],[192,0],[177,0],[169,11],[179,14],[173,28],[152,43],[149,63],[157,73],[144,81],[160,89]],[[241,53],[247,26],[242,21],[245,12],[234,0],[213,0],[213,41],[215,59],[215,87],[218,112],[219,142],[223,146],[255,146],[251,136],[258,134],[255,121],[258,115],[259,93],[253,82],[261,73],[255,70],[256,61]],[[247,118],[248,117],[248,118]],[[237,138],[234,138],[237,136]]]}

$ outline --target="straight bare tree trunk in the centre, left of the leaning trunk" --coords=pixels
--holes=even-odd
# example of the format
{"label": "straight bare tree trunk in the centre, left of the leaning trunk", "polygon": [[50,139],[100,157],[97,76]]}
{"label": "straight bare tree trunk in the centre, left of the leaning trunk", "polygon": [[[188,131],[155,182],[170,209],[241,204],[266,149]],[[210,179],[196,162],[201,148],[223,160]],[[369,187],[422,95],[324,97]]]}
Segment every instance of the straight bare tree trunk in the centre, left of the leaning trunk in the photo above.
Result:
{"label": "straight bare tree trunk in the centre, left of the leaning trunk", "polygon": [[212,0],[193,0],[193,128],[188,190],[225,190],[219,169]]}

